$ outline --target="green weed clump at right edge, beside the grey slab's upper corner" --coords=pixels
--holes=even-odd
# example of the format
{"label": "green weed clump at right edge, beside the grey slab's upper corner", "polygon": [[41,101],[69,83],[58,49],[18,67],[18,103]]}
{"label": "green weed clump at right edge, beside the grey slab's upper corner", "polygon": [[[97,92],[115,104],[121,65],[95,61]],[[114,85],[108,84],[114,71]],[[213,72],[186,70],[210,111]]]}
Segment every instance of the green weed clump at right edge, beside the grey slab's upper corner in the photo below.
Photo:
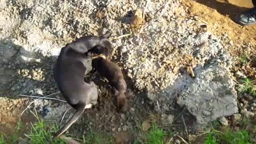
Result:
{"label": "green weed clump at right edge, beside the grey slab's upper corner", "polygon": [[251,81],[249,78],[245,78],[241,80],[241,84],[238,85],[238,92],[240,93],[249,93],[253,96],[256,96],[256,90],[255,90],[254,82]]}

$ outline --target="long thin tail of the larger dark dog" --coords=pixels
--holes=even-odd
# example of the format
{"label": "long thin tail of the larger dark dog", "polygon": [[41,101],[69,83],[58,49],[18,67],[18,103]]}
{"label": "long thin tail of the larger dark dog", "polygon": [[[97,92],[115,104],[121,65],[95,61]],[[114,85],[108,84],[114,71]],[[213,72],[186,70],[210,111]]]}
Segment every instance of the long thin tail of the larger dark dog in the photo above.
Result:
{"label": "long thin tail of the larger dark dog", "polygon": [[61,127],[61,129],[54,134],[54,137],[60,137],[60,135],[68,130],[68,128],[77,121],[77,119],[84,113],[85,104],[80,105],[75,114],[68,120],[68,122]]}

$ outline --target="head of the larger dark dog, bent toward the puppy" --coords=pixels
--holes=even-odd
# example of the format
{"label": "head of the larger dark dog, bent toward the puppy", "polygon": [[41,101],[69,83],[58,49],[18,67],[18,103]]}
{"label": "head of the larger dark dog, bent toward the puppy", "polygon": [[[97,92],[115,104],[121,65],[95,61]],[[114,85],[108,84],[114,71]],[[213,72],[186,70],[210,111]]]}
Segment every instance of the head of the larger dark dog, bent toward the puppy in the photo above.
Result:
{"label": "head of the larger dark dog, bent toward the puppy", "polygon": [[105,56],[106,59],[110,60],[112,48],[111,43],[108,39],[110,36],[110,32],[107,32],[106,34],[100,36],[100,44],[93,47],[91,51],[97,55],[102,54],[103,56]]}

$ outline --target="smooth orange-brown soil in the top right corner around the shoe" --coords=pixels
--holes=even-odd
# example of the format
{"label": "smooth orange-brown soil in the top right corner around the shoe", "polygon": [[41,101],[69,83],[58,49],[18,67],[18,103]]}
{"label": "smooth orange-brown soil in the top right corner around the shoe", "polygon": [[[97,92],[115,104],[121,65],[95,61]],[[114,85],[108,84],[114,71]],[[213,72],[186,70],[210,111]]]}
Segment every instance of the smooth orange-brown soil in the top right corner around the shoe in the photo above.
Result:
{"label": "smooth orange-brown soil in the top right corner around the shoe", "polygon": [[202,23],[213,34],[228,34],[236,44],[256,44],[256,25],[241,26],[233,20],[235,15],[246,12],[253,4],[251,0],[183,0],[190,15],[198,15]]}

